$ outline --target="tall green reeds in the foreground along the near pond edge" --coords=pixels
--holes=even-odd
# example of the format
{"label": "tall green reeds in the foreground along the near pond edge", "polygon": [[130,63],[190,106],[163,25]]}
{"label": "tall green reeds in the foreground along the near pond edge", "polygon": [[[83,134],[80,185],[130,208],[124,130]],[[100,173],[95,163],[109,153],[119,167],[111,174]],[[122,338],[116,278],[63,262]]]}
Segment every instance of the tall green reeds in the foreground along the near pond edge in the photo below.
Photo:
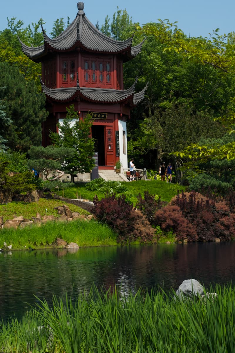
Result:
{"label": "tall green reeds in the foreground along the near pond edge", "polygon": [[[81,293],[72,304],[40,301],[21,323],[1,324],[1,352],[233,353],[235,289],[216,286],[214,299],[121,289]],[[49,329],[48,329],[49,328]],[[47,344],[46,344],[47,342]]]}

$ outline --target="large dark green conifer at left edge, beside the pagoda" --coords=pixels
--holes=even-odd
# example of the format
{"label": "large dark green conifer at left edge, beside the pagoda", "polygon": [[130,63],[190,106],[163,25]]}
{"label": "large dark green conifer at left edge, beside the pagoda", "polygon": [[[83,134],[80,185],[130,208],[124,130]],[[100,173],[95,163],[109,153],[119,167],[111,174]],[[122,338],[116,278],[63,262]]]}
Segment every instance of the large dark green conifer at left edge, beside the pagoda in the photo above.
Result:
{"label": "large dark green conifer at left edge, beside the pagoda", "polygon": [[34,82],[26,82],[15,66],[0,62],[0,99],[4,100],[5,113],[12,124],[5,127],[2,137],[12,150],[27,151],[32,145],[40,145],[45,110],[45,95],[37,94]]}

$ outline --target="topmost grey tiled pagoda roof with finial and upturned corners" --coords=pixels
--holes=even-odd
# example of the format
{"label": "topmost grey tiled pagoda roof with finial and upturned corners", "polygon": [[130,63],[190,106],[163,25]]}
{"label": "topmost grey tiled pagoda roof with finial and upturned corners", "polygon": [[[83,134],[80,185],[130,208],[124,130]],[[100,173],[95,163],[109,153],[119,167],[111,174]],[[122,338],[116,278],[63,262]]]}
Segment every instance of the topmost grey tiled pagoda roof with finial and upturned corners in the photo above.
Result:
{"label": "topmost grey tiled pagoda roof with finial and upturned corners", "polygon": [[78,10],[73,22],[54,39],[49,38],[42,27],[44,35],[42,46],[28,47],[20,41],[23,52],[35,61],[40,61],[40,58],[48,52],[73,50],[76,47],[97,53],[124,53],[129,59],[140,53],[143,42],[131,47],[132,38],[121,42],[107,37],[87,19],[83,11],[83,2],[78,2]]}

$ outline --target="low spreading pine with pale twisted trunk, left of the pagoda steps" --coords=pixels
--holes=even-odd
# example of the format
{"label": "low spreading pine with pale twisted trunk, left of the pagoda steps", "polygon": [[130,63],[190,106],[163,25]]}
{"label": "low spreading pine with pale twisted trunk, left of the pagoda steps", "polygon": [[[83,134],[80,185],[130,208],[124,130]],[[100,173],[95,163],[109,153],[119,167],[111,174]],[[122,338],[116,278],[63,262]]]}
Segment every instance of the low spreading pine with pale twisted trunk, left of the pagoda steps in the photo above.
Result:
{"label": "low spreading pine with pale twisted trunk, left of the pagoda steps", "polygon": [[[64,161],[72,158],[74,155],[73,148],[55,147],[55,146],[32,146],[28,151],[30,170],[33,168],[38,173],[44,174],[45,178],[50,181],[58,180],[64,175],[63,165]],[[53,177],[49,174],[53,173]]]}

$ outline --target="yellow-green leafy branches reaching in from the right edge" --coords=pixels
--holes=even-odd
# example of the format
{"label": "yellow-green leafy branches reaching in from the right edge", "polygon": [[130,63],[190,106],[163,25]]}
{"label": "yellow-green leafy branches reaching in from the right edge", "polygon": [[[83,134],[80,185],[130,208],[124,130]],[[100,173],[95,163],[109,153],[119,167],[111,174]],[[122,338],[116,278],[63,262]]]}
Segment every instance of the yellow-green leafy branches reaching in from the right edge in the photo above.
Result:
{"label": "yellow-green leafy branches reaching in from the right edge", "polygon": [[[233,36],[228,38],[226,43],[226,35],[218,35],[216,29],[209,37],[187,38],[183,32],[178,29],[175,23],[168,21],[160,21],[159,26],[152,24],[144,25],[143,28],[138,28],[141,33],[154,35],[159,38],[162,43],[167,43],[165,51],[174,51],[183,56],[184,59],[202,65],[211,66],[216,69],[217,74],[223,80],[234,80],[235,73],[235,44]],[[224,126],[233,133],[234,125],[234,95],[231,96],[231,103],[228,104],[227,112],[216,117]],[[191,168],[193,161],[204,163],[210,159],[235,159],[235,142],[229,142],[223,146],[215,145],[200,145],[198,143],[191,144],[181,151],[174,152],[176,156],[185,158],[185,168]],[[193,161],[192,161],[193,158]],[[189,162],[187,162],[187,160]]]}

